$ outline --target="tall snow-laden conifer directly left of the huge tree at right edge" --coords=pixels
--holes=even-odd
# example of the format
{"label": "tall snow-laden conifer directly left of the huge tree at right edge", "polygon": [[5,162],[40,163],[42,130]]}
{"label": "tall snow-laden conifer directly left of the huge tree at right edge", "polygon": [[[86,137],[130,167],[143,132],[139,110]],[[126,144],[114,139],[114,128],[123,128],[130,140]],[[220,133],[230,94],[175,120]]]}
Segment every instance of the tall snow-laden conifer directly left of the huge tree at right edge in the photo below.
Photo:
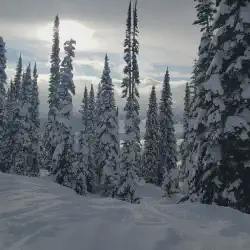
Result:
{"label": "tall snow-laden conifer directly left of the huge tree at right edge", "polygon": [[[196,193],[196,191],[200,188],[198,187],[199,185],[197,186],[199,178],[203,175],[203,171],[207,172],[208,170],[207,164],[205,164],[206,166],[203,164],[204,156],[206,152],[210,150],[210,146],[208,146],[206,142],[208,142],[207,140],[211,140],[211,138],[206,138],[206,127],[208,125],[206,117],[208,113],[206,114],[206,112],[212,108],[210,111],[213,114],[217,114],[220,105],[214,105],[213,99],[219,101],[221,99],[220,95],[222,94],[220,93],[217,96],[217,94],[214,95],[211,91],[206,89],[206,82],[208,80],[207,72],[215,53],[215,49],[212,44],[213,31],[211,28],[213,14],[215,12],[214,3],[213,1],[199,2],[196,5],[196,9],[197,21],[195,21],[194,24],[201,25],[201,31],[203,34],[198,51],[198,60],[193,72],[195,93],[190,104],[188,136],[186,138],[185,145],[186,152],[188,154],[186,155],[184,162],[186,172],[185,190],[189,192],[188,195],[191,200],[196,200],[197,196],[199,196],[199,194],[197,195]],[[215,130],[217,130],[220,127],[220,122],[217,121],[213,125],[213,129],[216,128]],[[212,139],[210,143],[217,144],[218,137],[216,133],[214,136],[215,140]],[[213,162],[212,164],[214,164],[214,166],[219,164],[218,159],[215,159],[214,157],[211,157],[210,161]],[[215,172],[212,173],[212,176],[213,174],[215,174]],[[210,178],[210,175],[207,175],[207,177],[208,179],[205,180],[205,183],[210,188],[208,192],[211,191],[212,193],[212,190],[216,189],[216,184],[213,183],[213,177],[212,179]],[[212,180],[212,182],[208,180]],[[208,196],[210,196],[210,194],[204,193],[204,197],[206,197],[206,199]]]}

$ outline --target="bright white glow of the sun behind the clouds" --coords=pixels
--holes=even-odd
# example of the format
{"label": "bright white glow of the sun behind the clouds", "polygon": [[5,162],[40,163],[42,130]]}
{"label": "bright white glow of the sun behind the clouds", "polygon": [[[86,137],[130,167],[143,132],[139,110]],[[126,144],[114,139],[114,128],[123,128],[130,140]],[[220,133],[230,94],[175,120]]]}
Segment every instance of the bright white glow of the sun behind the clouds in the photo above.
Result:
{"label": "bright white glow of the sun behind the clouds", "polygon": [[[99,47],[98,41],[94,38],[95,31],[89,29],[83,24],[73,20],[60,21],[60,43],[61,47],[65,41],[71,38],[76,41],[76,49],[93,50]],[[38,39],[43,41],[52,41],[53,23],[38,29]]]}

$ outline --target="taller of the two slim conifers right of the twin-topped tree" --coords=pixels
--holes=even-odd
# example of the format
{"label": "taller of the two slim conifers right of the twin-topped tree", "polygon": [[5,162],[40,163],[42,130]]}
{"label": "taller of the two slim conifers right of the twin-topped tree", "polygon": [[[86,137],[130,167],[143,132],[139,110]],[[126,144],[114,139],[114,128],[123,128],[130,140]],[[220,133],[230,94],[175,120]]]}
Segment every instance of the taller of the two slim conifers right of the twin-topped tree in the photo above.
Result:
{"label": "taller of the two slim conifers right of the twin-topped tree", "polygon": [[172,93],[167,69],[159,105],[159,147],[160,167],[159,184],[163,185],[166,195],[176,192],[178,188],[177,146],[173,122]]}

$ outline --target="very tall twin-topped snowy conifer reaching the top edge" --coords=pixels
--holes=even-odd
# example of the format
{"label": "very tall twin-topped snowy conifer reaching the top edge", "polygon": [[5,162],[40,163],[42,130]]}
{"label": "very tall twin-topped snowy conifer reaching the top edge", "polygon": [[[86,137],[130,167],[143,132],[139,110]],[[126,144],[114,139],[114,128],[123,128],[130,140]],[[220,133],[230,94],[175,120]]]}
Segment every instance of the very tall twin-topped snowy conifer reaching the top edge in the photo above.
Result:
{"label": "very tall twin-topped snowy conifer reaching the top edge", "polygon": [[132,12],[132,4],[130,2],[124,41],[124,60],[126,63],[124,68],[125,77],[122,82],[122,97],[127,98],[124,108],[125,138],[120,165],[121,173],[117,184],[116,195],[119,199],[131,203],[139,202],[139,199],[135,197],[135,182],[141,167],[140,117],[139,103],[137,100],[139,93],[136,86],[139,83],[139,71],[137,65],[137,55],[139,53],[137,24],[137,3]]}

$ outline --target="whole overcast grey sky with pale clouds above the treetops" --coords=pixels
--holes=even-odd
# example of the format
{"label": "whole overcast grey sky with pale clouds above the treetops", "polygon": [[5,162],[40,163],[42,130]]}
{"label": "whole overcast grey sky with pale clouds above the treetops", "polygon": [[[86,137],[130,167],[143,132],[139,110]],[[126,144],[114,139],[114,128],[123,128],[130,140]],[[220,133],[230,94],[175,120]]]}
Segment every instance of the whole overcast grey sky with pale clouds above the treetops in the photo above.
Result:
{"label": "whole overcast grey sky with pale clouds above the treetops", "polygon": [[[61,20],[61,42],[76,40],[75,110],[85,84],[97,86],[107,52],[116,86],[117,102],[123,77],[123,40],[129,0],[0,0],[0,36],[8,51],[8,75],[12,77],[19,53],[24,63],[38,64],[41,111],[46,113],[49,55],[54,17]],[[140,103],[145,113],[153,84],[161,89],[167,66],[175,106],[183,99],[199,43],[193,0],[138,0],[140,28]],[[63,57],[63,47],[61,47]]]}

